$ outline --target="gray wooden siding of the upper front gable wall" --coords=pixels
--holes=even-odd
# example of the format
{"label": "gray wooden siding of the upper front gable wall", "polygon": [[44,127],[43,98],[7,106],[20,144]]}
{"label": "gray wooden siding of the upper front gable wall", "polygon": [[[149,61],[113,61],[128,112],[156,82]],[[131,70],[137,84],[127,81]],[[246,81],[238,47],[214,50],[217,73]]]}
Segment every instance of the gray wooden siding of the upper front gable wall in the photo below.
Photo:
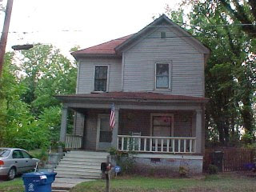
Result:
{"label": "gray wooden siding of the upper front gable wall", "polygon": [[[160,38],[166,31],[167,37]],[[155,91],[166,94],[204,96],[204,58],[171,28],[162,27],[149,34],[123,54],[123,91]],[[170,90],[154,90],[155,62],[170,62]]]}

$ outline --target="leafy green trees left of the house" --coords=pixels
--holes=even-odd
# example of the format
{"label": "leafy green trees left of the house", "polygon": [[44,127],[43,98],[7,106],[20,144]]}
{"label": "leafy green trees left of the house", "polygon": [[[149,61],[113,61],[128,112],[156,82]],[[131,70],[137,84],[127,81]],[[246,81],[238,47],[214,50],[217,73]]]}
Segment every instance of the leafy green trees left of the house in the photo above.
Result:
{"label": "leafy green trees left of the house", "polygon": [[13,57],[6,54],[0,80],[0,146],[57,146],[61,104],[54,95],[74,93],[77,63],[39,44],[22,50],[18,63]]}

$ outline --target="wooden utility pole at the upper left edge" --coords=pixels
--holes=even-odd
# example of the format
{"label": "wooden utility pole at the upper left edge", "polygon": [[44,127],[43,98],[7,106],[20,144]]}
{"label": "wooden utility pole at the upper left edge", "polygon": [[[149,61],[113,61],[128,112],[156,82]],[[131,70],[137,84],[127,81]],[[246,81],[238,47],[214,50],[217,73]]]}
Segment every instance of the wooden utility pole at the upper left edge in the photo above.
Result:
{"label": "wooden utility pole at the upper left edge", "polygon": [[2,77],[2,66],[3,66],[4,56],[6,53],[6,42],[7,42],[8,32],[9,32],[10,15],[11,15],[11,10],[13,8],[13,2],[14,0],[7,1],[6,17],[2,27],[2,35],[0,39],[0,78]]}

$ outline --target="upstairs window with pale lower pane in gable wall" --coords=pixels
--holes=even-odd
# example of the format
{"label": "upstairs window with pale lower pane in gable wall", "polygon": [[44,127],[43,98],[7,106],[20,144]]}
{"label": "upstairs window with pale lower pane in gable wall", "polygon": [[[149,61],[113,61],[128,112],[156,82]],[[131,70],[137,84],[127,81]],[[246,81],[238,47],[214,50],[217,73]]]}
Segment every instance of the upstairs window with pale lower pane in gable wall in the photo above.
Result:
{"label": "upstairs window with pale lower pane in gable wall", "polygon": [[156,63],[155,65],[155,88],[169,89],[170,88],[170,74],[169,63]]}

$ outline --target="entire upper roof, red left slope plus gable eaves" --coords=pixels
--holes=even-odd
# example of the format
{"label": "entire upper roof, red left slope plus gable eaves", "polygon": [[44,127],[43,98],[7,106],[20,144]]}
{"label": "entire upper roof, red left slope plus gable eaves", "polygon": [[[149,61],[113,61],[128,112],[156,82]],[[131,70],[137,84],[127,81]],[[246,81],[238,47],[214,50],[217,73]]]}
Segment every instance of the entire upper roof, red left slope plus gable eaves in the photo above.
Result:
{"label": "entire upper roof, red left slope plus gable eaves", "polygon": [[[74,51],[71,53],[74,58],[79,57],[94,57],[94,56],[118,56],[127,46],[132,45],[139,38],[142,38],[144,34],[147,32],[154,30],[154,26],[158,26],[163,22],[166,23],[166,26],[174,26],[174,31],[176,33],[181,34],[181,38],[183,38],[186,42],[189,42],[194,46],[202,54],[210,54],[210,50],[202,44],[197,38],[194,38],[190,33],[186,30],[183,30],[182,27],[178,26],[176,23],[172,22],[170,18],[167,18],[165,14],[162,14],[159,18],[155,19],[154,22],[151,22],[148,26],[144,27],[142,30],[138,31],[136,34],[130,34],[122,38],[117,38],[111,40],[110,42],[104,42],[97,46],[91,46],[89,48]],[[184,38],[184,36],[186,38]]]}

